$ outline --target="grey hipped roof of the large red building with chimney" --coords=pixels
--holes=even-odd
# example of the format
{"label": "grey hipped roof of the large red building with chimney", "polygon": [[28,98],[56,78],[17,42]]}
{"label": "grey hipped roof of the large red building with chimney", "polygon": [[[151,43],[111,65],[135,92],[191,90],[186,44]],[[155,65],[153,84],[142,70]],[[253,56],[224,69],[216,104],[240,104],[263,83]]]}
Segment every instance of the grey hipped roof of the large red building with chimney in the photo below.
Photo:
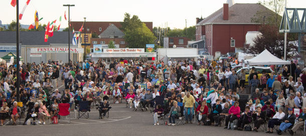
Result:
{"label": "grey hipped roof of the large red building with chimney", "polygon": [[[269,8],[265,7],[260,3],[235,3],[229,7],[229,17],[228,20],[223,20],[223,7],[215,11],[197,25],[205,25],[211,23],[219,24],[230,24],[230,23],[257,23],[252,21],[252,17],[256,16],[256,13],[261,13],[263,16],[270,16],[274,13]],[[262,14],[263,13],[263,14]]]}

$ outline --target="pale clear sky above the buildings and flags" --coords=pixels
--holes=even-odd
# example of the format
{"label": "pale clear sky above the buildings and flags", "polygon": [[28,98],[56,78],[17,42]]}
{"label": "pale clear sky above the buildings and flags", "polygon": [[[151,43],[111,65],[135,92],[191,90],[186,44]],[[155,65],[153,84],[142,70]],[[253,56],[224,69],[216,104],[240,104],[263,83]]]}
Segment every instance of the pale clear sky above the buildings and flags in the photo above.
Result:
{"label": "pale clear sky above the buildings and flags", "polygon": [[[1,0],[0,20],[3,24],[16,20],[16,7],[11,0]],[[19,0],[21,12],[27,0]],[[70,7],[71,21],[122,21],[124,13],[138,15],[141,21],[152,21],[153,26],[163,26],[168,22],[170,28],[184,28],[196,24],[196,17],[207,17],[220,9],[227,0],[31,0],[26,8],[22,24],[34,22],[35,10],[42,24],[62,16],[61,27],[68,27],[68,7],[63,4],[75,4]],[[259,0],[234,0],[235,3],[257,3]],[[263,0],[261,0],[263,1]],[[287,7],[306,8],[306,0],[287,0]],[[64,19],[66,10],[67,20]]]}

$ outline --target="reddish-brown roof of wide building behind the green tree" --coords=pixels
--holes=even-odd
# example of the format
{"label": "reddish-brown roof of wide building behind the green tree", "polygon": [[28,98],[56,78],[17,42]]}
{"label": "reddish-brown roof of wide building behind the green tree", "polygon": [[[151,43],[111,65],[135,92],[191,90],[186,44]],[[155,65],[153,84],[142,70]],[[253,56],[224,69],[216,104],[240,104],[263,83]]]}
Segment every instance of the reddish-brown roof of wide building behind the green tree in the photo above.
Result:
{"label": "reddish-brown roof of wide building behind the green tree", "polygon": [[[71,24],[75,31],[78,31],[84,21],[71,21]],[[153,22],[143,22],[145,25],[153,31]],[[89,28],[89,31],[86,32],[92,32],[100,35],[102,31],[104,31],[110,24],[114,24],[117,28],[121,28],[121,22],[120,21],[86,21],[86,29]],[[85,24],[84,29],[82,30],[82,33],[85,32]],[[101,31],[100,29],[101,28]]]}

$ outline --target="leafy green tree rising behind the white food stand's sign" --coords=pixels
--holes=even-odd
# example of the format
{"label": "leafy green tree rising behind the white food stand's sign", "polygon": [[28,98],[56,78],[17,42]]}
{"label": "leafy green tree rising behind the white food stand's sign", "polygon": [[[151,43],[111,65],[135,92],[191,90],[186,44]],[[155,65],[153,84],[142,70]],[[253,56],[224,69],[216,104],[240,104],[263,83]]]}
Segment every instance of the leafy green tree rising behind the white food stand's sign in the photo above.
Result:
{"label": "leafy green tree rising behind the white food stand's sign", "polygon": [[130,17],[129,13],[124,14],[123,22],[121,22],[121,30],[124,31],[124,40],[127,47],[144,48],[145,44],[152,44],[156,37],[145,23],[142,23],[137,15]]}

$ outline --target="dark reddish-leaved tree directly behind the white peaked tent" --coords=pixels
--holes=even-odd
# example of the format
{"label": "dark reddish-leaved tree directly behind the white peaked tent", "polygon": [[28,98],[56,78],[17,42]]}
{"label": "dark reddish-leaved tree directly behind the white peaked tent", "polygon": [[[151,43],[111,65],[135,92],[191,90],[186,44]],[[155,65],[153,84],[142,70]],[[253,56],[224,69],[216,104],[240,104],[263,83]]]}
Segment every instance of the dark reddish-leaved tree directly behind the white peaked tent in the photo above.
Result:
{"label": "dark reddish-leaved tree directly behind the white peaked tent", "polygon": [[[245,47],[245,52],[250,54],[259,54],[264,49],[270,51],[273,55],[281,58],[284,56],[284,36],[278,32],[278,27],[275,25],[263,24],[259,31],[262,33],[258,35],[253,41],[253,45]],[[289,43],[289,44],[288,44]],[[297,46],[292,41],[287,41],[286,58],[297,54]]]}

